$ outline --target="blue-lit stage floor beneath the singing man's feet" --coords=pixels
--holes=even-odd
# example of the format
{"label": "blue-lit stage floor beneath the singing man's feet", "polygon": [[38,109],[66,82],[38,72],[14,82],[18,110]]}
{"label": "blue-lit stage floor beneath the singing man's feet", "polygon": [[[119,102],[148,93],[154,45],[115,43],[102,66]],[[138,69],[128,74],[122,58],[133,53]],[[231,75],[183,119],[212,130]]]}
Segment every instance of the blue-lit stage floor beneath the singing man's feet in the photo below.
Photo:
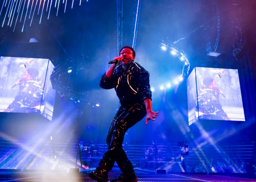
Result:
{"label": "blue-lit stage floor beneath the singing man's feet", "polygon": [[[74,171],[43,171],[43,170],[2,170],[0,181],[5,182],[90,182],[90,170]],[[201,175],[201,174],[155,174],[150,171],[135,170],[139,182],[256,182],[256,179],[244,177]],[[109,181],[120,174],[118,169],[109,172]]]}

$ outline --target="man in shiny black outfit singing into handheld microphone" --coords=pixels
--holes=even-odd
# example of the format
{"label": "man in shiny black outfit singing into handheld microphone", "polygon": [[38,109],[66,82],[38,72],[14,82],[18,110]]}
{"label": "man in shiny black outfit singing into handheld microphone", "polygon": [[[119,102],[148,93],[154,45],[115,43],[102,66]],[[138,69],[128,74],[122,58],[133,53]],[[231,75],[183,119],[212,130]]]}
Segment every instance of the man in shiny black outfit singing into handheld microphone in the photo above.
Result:
{"label": "man in shiny black outfit singing into handheld microphone", "polygon": [[155,121],[158,112],[152,111],[149,73],[138,63],[134,62],[135,51],[130,46],[124,46],[119,51],[120,57],[115,57],[114,63],[101,77],[100,86],[112,89],[120,100],[120,108],[112,119],[107,135],[108,151],[103,155],[96,171],[89,173],[89,177],[98,182],[108,181],[108,172],[114,162],[122,171],[119,178],[112,181],[137,182],[132,163],[122,148],[126,131],[138,123],[146,115],[148,120]]}

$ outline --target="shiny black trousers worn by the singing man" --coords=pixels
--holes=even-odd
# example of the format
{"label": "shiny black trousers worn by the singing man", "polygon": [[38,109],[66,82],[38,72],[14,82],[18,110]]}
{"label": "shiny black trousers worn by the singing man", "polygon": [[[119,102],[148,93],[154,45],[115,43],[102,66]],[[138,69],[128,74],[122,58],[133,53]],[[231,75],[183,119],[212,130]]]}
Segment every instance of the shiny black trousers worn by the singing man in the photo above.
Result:
{"label": "shiny black trousers worn by the singing man", "polygon": [[99,169],[111,171],[114,162],[124,174],[134,173],[132,163],[122,147],[126,131],[146,115],[144,104],[135,104],[130,109],[121,106],[112,119],[107,135],[108,151],[99,163]]}

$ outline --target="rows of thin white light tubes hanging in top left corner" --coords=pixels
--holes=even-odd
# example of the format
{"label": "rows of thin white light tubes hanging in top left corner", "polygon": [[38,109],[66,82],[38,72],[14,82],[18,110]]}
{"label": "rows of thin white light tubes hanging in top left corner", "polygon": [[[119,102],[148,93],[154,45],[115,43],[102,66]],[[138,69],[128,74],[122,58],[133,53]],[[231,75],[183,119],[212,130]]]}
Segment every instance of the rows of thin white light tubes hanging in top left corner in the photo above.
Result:
{"label": "rows of thin white light tubes hanging in top left corner", "polygon": [[[4,25],[14,27],[17,25],[17,21],[23,23],[21,32],[23,32],[25,21],[29,19],[30,26],[33,21],[35,13],[40,16],[39,24],[41,24],[43,13],[48,13],[47,19],[50,16],[51,8],[57,8],[56,16],[58,16],[58,10],[60,3],[64,4],[64,13],[66,12],[67,2],[72,1],[71,9],[74,5],[74,0],[3,0],[0,4],[0,19],[3,19],[2,27]],[[88,2],[88,0],[86,1]],[[81,6],[81,0],[79,0],[79,6]],[[13,31],[14,31],[13,30]]]}

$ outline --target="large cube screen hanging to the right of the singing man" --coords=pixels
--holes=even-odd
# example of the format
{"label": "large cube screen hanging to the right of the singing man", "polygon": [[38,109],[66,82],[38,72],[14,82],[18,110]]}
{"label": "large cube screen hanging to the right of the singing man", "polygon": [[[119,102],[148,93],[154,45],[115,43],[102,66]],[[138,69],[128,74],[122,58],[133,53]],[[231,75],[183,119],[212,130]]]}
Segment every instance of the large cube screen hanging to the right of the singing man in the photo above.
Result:
{"label": "large cube screen hanging to the right of the singing man", "polygon": [[194,68],[187,94],[188,125],[199,119],[245,121],[236,69]]}

